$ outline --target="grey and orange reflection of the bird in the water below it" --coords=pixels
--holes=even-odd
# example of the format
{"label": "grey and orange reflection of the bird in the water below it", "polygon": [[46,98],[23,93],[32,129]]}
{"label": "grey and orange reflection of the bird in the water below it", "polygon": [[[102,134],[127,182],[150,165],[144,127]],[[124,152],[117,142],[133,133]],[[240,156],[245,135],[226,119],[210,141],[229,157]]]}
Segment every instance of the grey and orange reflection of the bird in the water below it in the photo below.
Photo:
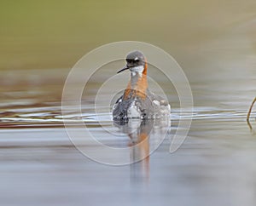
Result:
{"label": "grey and orange reflection of the bird in the water below it", "polygon": [[151,152],[160,146],[170,127],[170,118],[156,120],[130,119],[128,122],[114,122],[130,139],[131,181],[149,180]]}

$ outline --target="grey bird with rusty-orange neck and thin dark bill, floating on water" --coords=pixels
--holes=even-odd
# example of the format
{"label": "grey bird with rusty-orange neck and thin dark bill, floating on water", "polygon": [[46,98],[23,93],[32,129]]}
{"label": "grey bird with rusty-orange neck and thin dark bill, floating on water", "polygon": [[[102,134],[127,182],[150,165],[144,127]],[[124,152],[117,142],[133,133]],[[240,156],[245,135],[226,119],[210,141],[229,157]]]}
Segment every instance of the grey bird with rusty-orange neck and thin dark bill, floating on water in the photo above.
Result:
{"label": "grey bird with rusty-orange neck and thin dark bill, floating on water", "polygon": [[123,95],[113,105],[113,120],[169,117],[171,106],[168,101],[148,89],[148,62],[141,51],[127,54],[125,67],[117,73],[126,70],[131,72],[131,78]]}

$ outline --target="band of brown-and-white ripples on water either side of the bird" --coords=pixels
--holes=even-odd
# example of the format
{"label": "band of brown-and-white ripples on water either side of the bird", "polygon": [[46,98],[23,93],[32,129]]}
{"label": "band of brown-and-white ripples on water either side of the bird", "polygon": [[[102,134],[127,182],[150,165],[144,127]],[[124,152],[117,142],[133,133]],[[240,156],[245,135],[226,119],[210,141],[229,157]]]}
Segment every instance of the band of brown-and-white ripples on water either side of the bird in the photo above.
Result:
{"label": "band of brown-and-white ripples on water either side of the bird", "polygon": [[[1,128],[19,128],[19,127],[63,127],[63,119],[67,123],[78,123],[83,119],[84,123],[90,123],[90,126],[99,126],[101,123],[112,123],[111,113],[98,113],[94,112],[93,106],[84,106],[83,113],[73,112],[72,107],[65,115],[61,114],[61,106],[57,103],[52,105],[26,105],[24,106],[11,106],[4,109],[1,106],[0,112],[0,127]],[[193,109],[193,114],[189,110],[184,109],[183,114],[179,114],[178,108],[172,108],[171,118],[172,121],[178,121],[180,118],[192,118],[193,120],[206,119],[206,120],[226,120],[236,121],[237,119],[245,119],[246,112],[234,111],[228,109],[221,109],[218,107],[196,106]],[[253,116],[253,115],[252,115]]]}

